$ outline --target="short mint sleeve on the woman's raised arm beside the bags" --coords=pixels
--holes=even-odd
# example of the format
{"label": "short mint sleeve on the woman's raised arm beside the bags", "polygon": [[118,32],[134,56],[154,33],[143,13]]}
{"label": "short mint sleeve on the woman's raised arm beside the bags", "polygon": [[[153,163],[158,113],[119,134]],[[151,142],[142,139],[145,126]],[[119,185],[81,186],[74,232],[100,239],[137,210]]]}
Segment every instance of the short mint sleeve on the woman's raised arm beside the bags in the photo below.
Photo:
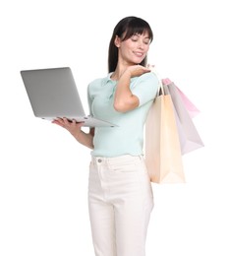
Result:
{"label": "short mint sleeve on the woman's raised arm beside the bags", "polygon": [[139,97],[140,106],[153,100],[158,90],[158,79],[154,73],[145,73],[133,83],[131,87],[132,94]]}

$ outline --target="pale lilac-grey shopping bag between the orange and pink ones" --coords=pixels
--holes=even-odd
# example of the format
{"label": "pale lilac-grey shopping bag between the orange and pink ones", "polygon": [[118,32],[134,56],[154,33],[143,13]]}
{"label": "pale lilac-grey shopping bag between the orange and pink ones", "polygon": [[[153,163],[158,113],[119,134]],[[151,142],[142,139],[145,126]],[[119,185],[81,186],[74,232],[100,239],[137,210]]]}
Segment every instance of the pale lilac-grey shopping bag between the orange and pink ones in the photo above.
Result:
{"label": "pale lilac-grey shopping bag between the orange and pink ones", "polygon": [[194,121],[174,83],[163,85],[165,95],[172,97],[182,155],[203,147]]}

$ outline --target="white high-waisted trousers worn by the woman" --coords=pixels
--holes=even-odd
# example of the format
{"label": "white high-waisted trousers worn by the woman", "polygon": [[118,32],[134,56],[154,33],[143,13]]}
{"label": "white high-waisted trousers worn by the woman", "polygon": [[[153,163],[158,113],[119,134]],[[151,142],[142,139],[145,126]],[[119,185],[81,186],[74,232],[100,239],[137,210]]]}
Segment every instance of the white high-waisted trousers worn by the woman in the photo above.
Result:
{"label": "white high-waisted trousers worn by the woman", "polygon": [[96,256],[144,256],[152,208],[142,156],[92,157],[88,209]]}

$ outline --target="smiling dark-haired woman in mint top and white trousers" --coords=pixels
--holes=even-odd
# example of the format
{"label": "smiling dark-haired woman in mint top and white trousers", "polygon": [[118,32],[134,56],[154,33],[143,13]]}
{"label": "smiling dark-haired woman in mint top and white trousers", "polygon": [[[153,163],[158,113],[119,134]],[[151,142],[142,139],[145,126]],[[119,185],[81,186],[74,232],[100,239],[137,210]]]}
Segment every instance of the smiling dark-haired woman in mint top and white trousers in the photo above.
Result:
{"label": "smiling dark-haired woman in mint top and white trousers", "polygon": [[117,127],[85,133],[75,120],[53,121],[92,150],[88,207],[96,256],[145,255],[153,196],[142,157],[143,125],[158,87],[146,67],[152,38],[141,18],[122,19],[110,40],[108,75],[88,85],[90,113]]}

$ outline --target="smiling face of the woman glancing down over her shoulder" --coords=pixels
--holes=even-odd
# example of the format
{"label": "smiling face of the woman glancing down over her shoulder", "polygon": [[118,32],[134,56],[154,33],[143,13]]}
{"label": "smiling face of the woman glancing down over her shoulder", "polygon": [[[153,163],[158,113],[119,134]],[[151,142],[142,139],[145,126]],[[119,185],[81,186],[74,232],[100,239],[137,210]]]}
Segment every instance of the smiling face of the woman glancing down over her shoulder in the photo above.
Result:
{"label": "smiling face of the woman glancing down over her shoulder", "polygon": [[119,48],[119,61],[127,65],[140,64],[147,54],[149,43],[150,39],[147,32],[133,34],[124,41],[117,36],[115,44]]}

